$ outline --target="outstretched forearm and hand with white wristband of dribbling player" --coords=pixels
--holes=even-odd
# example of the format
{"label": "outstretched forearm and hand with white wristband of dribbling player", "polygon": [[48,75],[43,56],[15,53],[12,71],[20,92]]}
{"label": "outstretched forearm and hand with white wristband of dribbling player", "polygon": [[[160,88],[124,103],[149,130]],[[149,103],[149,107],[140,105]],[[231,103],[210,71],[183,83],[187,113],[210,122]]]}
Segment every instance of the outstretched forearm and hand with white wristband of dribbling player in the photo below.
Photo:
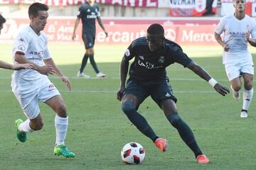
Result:
{"label": "outstretched forearm and hand with white wristband of dribbling player", "polygon": [[215,79],[213,79],[213,77],[210,77],[210,74],[208,74],[208,72],[206,72],[205,69],[203,69],[198,64],[196,64],[196,62],[193,62],[193,60],[191,60],[191,62],[189,62],[186,65],[186,67],[188,67],[188,69],[191,69],[194,73],[198,74],[198,76],[201,77],[202,79],[205,79],[206,81],[208,81],[208,83],[211,86],[213,86],[215,91],[217,91],[222,96],[225,96],[226,94],[230,93],[230,90],[228,88],[226,88],[222,84],[219,84],[217,81],[215,81]]}

